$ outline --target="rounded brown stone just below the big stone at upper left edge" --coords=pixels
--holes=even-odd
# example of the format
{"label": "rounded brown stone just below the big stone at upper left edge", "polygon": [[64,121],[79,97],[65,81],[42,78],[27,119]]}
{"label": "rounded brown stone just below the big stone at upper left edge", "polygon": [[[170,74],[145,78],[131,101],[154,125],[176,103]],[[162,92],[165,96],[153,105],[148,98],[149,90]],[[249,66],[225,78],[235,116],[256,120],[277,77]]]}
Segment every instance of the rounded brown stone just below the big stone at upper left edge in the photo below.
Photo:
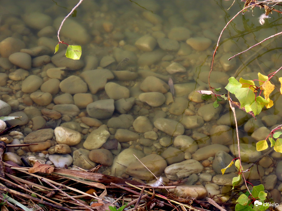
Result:
{"label": "rounded brown stone just below the big stone at upper left edge", "polygon": [[9,61],[25,70],[31,69],[31,56],[27,53],[16,52],[9,56]]}

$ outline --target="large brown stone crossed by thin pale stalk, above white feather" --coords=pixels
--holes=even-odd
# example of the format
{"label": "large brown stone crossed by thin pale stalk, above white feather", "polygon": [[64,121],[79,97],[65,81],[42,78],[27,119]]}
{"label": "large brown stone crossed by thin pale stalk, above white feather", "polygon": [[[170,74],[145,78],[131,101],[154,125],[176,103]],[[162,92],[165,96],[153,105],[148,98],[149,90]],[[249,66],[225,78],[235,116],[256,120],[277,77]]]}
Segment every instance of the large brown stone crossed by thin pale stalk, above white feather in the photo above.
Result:
{"label": "large brown stone crossed by thin pale stalk, above white feather", "polygon": [[[141,162],[140,162],[141,161]],[[167,167],[167,162],[159,155],[151,154],[145,156],[135,162],[132,162],[127,168],[126,173],[130,176],[136,177],[141,180],[152,180],[154,175],[159,177],[163,173],[164,169]],[[145,168],[144,165],[154,174]]]}

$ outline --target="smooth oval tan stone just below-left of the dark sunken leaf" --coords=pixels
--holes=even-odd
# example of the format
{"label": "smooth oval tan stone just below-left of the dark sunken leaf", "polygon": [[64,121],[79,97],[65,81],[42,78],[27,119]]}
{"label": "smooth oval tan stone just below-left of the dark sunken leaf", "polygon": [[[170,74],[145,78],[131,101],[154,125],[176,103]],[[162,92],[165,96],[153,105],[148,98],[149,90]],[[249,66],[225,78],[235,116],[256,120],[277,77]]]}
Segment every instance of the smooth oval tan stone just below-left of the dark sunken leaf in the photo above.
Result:
{"label": "smooth oval tan stone just below-left of the dark sunken leaf", "polygon": [[146,102],[148,105],[159,107],[163,105],[166,97],[160,92],[145,92],[139,95],[139,99],[141,102]]}

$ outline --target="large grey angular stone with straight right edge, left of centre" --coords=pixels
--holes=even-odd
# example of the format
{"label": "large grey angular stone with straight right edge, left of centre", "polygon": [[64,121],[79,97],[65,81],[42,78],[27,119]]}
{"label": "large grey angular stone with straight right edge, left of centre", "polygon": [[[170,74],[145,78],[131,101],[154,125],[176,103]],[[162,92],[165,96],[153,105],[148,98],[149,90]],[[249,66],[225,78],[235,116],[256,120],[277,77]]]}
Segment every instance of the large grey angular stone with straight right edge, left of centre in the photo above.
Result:
{"label": "large grey angular stone with straight right edge, left of centre", "polygon": [[87,105],[87,113],[89,116],[97,119],[108,119],[115,110],[114,100],[97,100]]}

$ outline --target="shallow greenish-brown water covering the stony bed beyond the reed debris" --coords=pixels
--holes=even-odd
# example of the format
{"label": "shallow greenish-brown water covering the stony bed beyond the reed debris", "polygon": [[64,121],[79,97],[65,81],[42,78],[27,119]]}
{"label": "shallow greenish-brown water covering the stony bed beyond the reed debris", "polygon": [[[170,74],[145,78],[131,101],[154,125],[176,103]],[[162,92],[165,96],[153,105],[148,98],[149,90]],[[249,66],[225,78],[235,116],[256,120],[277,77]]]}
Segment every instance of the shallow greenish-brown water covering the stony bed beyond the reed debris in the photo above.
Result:
{"label": "shallow greenish-brown water covering the stony bed beyond the reed debris", "polygon": [[[227,11],[230,2],[219,0],[84,1],[60,33],[64,42],[82,45],[82,57],[76,61],[65,58],[62,44],[56,55],[53,52],[57,28],[77,1],[30,2],[1,1],[0,91],[8,93],[2,95],[8,103],[2,115],[23,116],[10,122],[20,124],[23,135],[18,139],[42,144],[11,152],[36,155],[55,166],[62,162],[56,163],[54,156],[50,162],[49,154],[61,161],[70,157],[85,169],[101,163],[105,174],[152,180],[134,154],[166,182],[188,177],[185,184],[206,187],[198,197],[207,191],[225,193],[235,169],[226,178],[218,169],[237,154],[233,115],[228,103],[214,109],[212,100],[204,102],[195,91],[208,88],[214,46],[241,2]],[[279,31],[280,15],[271,14],[261,26],[261,13],[255,8],[239,15],[222,35],[210,78],[212,87],[222,88],[221,94],[231,76],[253,80],[258,72],[268,75],[281,65],[279,38],[227,60]],[[278,77],[273,83],[279,86]],[[172,88],[175,95],[169,92]],[[278,90],[272,98],[276,105],[256,121],[237,110],[246,163],[258,159],[255,143],[281,121]],[[56,128],[56,139],[53,130],[43,133],[40,128]],[[69,154],[69,146],[72,157],[62,156]],[[270,155],[274,164],[281,159],[278,153]],[[258,164],[262,180],[278,176],[271,159]],[[255,170],[249,176],[259,179]],[[266,189],[273,191],[280,181],[269,183]],[[280,197],[275,200],[280,202]]]}

